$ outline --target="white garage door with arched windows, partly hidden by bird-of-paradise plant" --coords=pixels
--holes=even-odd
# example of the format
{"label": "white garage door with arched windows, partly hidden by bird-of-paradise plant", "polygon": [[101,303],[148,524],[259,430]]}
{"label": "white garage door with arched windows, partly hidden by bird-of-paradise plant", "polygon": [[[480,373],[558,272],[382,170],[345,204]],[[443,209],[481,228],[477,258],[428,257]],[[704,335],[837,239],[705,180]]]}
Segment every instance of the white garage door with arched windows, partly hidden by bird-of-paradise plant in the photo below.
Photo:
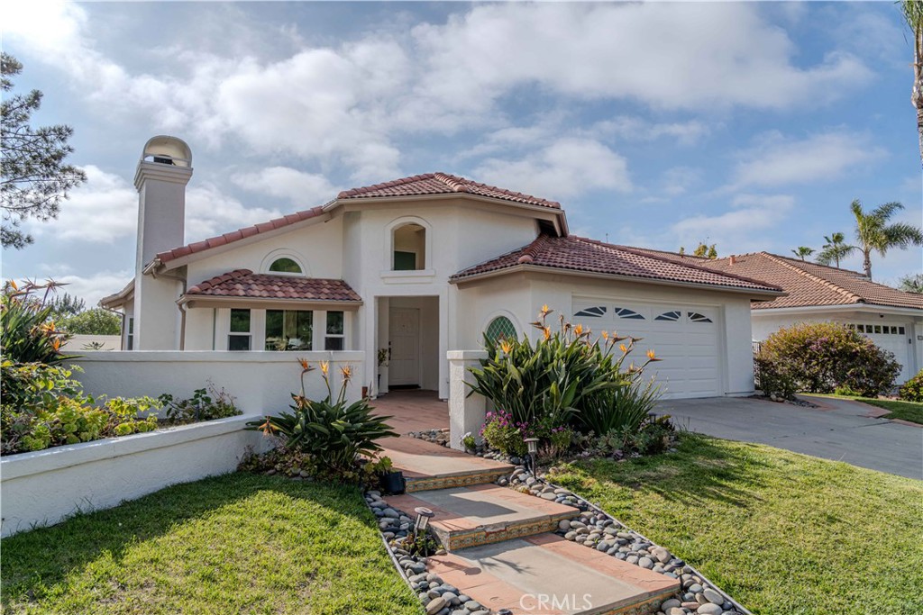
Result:
{"label": "white garage door with arched windows, partly hidden by bird-of-paradise plant", "polygon": [[647,373],[656,375],[665,397],[724,395],[719,351],[719,309],[677,303],[638,303],[574,299],[572,322],[594,335],[606,330],[619,336],[643,337],[631,358],[647,361],[648,349],[658,359]]}

